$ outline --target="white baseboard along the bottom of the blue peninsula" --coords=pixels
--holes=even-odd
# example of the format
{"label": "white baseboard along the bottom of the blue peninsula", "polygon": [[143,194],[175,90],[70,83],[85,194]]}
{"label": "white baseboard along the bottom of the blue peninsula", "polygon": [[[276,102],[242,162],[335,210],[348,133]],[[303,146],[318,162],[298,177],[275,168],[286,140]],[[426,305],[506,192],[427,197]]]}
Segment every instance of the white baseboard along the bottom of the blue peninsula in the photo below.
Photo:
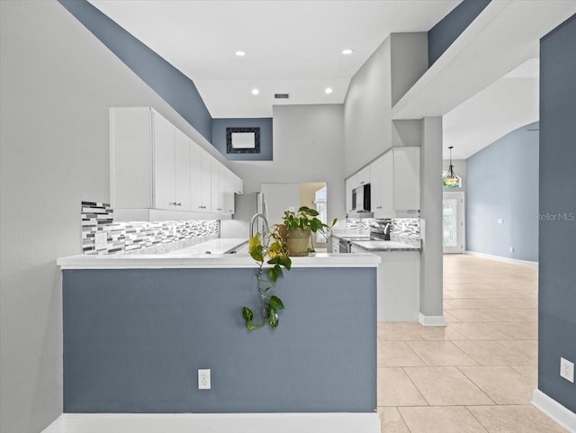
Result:
{"label": "white baseboard along the bottom of the blue peninsula", "polygon": [[42,433],[379,433],[378,413],[63,413]]}

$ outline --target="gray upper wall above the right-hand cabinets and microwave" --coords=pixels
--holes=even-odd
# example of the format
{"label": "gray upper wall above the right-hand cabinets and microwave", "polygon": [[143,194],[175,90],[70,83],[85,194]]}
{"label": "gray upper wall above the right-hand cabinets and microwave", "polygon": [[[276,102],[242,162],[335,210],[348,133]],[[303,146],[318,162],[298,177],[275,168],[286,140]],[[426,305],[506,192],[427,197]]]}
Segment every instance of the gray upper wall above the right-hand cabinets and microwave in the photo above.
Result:
{"label": "gray upper wall above the right-hand cabinets and microwave", "polygon": [[419,146],[419,120],[392,121],[392,105],[428,68],[427,34],[392,33],[350,81],[344,102],[345,177],[392,146]]}

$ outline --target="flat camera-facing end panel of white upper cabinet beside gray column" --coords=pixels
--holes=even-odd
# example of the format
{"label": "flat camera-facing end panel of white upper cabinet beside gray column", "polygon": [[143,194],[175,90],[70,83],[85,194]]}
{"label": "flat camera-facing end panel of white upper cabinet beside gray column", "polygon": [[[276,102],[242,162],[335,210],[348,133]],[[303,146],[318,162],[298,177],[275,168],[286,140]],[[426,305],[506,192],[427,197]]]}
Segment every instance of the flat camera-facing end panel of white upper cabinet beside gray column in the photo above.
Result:
{"label": "flat camera-facing end panel of white upper cabinet beside gray column", "polygon": [[394,209],[420,209],[420,149],[395,148],[394,153]]}

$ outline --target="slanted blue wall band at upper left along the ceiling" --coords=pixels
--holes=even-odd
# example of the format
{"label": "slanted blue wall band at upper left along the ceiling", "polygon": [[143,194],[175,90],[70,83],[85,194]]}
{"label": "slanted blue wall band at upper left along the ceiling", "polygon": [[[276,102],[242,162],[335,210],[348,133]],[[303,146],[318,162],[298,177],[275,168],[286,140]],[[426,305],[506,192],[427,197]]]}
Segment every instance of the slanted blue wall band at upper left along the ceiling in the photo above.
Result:
{"label": "slanted blue wall band at upper left along the ceiling", "polygon": [[211,141],[211,115],[190,78],[184,76],[156,52],[85,0],[58,0],[58,2],[153,88],[196,131]]}

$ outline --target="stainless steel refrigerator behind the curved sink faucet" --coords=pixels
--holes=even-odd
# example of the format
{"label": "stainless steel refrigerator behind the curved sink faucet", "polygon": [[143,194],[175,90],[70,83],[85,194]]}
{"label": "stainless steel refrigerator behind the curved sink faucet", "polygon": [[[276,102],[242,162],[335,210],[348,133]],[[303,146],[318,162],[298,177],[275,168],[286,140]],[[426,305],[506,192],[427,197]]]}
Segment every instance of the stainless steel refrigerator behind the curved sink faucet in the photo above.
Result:
{"label": "stainless steel refrigerator behind the curved sink faucet", "polygon": [[[257,213],[268,218],[266,201],[262,193],[234,194],[234,215],[231,220],[220,221],[220,238],[248,238],[250,221]],[[254,223],[254,232],[265,230],[260,218]]]}

